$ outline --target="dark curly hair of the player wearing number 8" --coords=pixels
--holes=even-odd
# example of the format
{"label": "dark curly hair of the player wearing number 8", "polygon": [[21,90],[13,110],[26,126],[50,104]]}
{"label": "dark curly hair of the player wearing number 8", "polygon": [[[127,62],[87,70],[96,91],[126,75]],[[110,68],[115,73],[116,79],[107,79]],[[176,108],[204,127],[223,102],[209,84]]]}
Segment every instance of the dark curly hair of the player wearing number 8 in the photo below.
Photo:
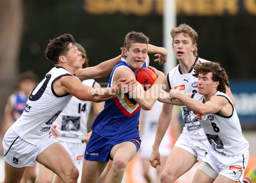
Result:
{"label": "dark curly hair of the player wearing number 8", "polygon": [[223,93],[226,93],[226,85],[229,87],[229,81],[227,77],[226,71],[221,68],[221,65],[218,62],[202,62],[199,61],[195,64],[195,66],[192,66],[195,70],[195,76],[198,78],[198,74],[207,74],[212,73],[212,81],[219,81],[219,85],[217,87],[217,90]]}

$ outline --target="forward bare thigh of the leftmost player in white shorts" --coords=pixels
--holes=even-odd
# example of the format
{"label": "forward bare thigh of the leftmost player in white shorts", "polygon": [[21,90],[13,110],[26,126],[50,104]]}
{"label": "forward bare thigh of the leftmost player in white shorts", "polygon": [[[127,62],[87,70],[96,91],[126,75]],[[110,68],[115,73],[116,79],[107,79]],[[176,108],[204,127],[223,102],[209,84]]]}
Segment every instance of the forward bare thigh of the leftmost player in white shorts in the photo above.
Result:
{"label": "forward bare thigh of the leftmost player in white shorts", "polygon": [[38,155],[36,161],[60,176],[76,168],[70,155],[59,142],[55,142],[44,149]]}

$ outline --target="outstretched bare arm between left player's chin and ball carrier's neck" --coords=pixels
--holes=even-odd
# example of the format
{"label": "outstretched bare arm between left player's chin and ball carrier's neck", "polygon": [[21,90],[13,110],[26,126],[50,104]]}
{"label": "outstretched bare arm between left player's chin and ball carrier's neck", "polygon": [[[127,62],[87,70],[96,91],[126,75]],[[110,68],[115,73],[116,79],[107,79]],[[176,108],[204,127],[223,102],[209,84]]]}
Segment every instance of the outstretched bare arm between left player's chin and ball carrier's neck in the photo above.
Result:
{"label": "outstretched bare arm between left player's chin and ball carrier's neck", "polygon": [[76,76],[81,80],[91,79],[91,78],[103,78],[108,76],[115,67],[115,65],[121,60],[121,55],[112,58],[108,61],[104,61],[94,67],[87,67],[84,69],[79,69],[76,71]]}

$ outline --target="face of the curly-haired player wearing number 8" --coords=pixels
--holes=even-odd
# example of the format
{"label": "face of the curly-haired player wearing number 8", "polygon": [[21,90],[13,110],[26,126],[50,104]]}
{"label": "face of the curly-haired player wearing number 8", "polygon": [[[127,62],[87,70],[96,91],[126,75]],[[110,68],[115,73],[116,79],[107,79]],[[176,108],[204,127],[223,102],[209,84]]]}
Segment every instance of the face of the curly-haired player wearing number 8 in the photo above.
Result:
{"label": "face of the curly-haired player wearing number 8", "polygon": [[201,95],[214,95],[218,82],[212,81],[212,73],[198,75],[198,93]]}

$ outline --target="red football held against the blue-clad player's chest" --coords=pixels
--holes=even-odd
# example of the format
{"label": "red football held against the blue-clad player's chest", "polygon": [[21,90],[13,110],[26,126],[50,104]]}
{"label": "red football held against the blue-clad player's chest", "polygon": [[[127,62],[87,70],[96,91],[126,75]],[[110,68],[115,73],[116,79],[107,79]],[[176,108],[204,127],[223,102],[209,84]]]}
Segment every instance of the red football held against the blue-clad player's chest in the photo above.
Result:
{"label": "red football held against the blue-clad player's chest", "polygon": [[147,91],[154,81],[156,81],[157,76],[153,70],[148,67],[141,68],[136,75],[136,80],[144,87],[144,90]]}

